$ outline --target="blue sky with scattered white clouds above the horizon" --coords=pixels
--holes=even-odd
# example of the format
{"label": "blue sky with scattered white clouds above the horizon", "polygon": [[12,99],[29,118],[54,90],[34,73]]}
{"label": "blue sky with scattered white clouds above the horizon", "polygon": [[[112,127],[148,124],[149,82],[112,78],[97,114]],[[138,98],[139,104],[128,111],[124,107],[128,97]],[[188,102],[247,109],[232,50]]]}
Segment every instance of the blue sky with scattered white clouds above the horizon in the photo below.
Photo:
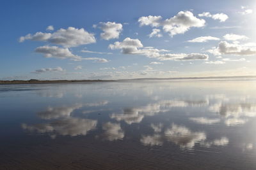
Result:
{"label": "blue sky with scattered white clouds above the horizon", "polygon": [[0,80],[256,76],[256,1],[14,1]]}

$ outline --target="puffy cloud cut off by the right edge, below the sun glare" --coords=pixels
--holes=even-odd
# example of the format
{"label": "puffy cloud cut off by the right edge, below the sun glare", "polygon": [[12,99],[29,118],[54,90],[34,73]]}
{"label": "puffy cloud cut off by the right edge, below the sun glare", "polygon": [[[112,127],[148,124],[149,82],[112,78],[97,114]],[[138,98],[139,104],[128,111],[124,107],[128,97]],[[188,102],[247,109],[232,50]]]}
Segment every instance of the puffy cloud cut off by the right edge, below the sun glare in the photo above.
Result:
{"label": "puffy cloud cut off by the right edge, below the sun glare", "polygon": [[214,55],[255,55],[256,48],[246,45],[240,45],[237,43],[228,43],[227,41],[221,41],[218,47],[208,50],[208,52]]}

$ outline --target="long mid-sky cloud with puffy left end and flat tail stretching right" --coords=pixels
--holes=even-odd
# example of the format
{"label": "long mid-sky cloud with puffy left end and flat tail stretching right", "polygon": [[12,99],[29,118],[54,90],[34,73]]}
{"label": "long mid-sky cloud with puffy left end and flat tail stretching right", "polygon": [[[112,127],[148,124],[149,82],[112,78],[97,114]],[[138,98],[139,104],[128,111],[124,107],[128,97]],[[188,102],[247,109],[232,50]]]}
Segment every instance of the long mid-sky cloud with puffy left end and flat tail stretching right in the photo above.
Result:
{"label": "long mid-sky cloud with puffy left end and flat tail stretching right", "polygon": [[159,60],[207,60],[209,56],[201,53],[166,53],[168,50],[159,50],[150,46],[144,47],[139,39],[125,38],[109,45],[111,50],[121,49],[125,54],[145,55]]}

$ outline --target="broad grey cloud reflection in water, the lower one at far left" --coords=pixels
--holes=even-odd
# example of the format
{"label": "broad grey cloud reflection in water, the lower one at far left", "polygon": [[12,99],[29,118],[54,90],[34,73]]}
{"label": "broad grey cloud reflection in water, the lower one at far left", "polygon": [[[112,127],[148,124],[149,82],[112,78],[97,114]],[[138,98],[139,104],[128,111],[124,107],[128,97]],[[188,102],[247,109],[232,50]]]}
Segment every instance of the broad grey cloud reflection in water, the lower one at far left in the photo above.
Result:
{"label": "broad grey cloud reflection in water, the lower one at far left", "polygon": [[47,124],[27,125],[22,124],[22,128],[28,131],[39,133],[49,133],[51,136],[60,135],[86,135],[88,131],[95,129],[97,120],[84,118],[64,118]]}

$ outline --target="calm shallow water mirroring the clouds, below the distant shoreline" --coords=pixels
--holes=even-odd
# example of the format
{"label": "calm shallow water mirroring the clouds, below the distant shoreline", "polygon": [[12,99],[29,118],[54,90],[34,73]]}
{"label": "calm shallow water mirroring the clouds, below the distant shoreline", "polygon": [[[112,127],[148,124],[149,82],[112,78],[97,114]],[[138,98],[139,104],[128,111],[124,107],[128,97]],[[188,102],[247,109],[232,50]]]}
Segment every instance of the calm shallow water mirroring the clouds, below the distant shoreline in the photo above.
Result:
{"label": "calm shallow water mirroring the clouds, below the distant shoreline", "polygon": [[0,169],[255,169],[256,81],[0,85]]}

